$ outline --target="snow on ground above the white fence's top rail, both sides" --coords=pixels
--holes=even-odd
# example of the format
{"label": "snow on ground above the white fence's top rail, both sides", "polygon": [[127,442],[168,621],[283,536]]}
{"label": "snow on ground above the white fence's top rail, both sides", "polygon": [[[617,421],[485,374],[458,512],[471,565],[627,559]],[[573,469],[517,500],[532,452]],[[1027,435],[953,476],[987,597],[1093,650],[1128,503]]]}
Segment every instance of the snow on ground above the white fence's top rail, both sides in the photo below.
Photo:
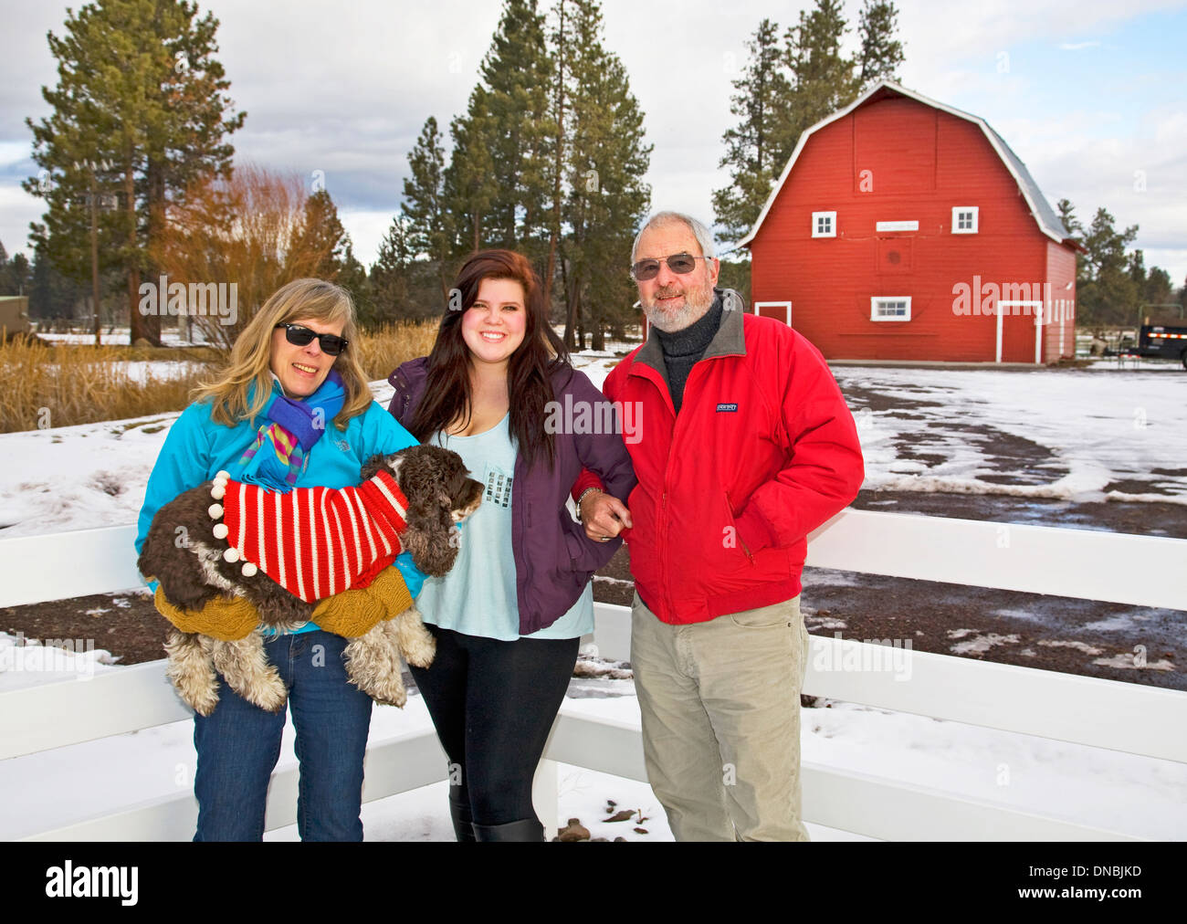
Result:
{"label": "snow on ground above the white fence's top rail, both sides", "polygon": [[[599,387],[618,361],[575,356]],[[865,488],[1187,505],[1187,373],[839,366],[833,374],[857,420]],[[385,406],[392,397],[382,380],[372,392]],[[889,410],[872,410],[872,400]],[[4,534],[134,523],[176,418],[0,435]],[[1005,460],[1003,470],[994,449],[1002,438],[1049,457],[1028,469]],[[1115,482],[1126,489],[1106,492]]]}

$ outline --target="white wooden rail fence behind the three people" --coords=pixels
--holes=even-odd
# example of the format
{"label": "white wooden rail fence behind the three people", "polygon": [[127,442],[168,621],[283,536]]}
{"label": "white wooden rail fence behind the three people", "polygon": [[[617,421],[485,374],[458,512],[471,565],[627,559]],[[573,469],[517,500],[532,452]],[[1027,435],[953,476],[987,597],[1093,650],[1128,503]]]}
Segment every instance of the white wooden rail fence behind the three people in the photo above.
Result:
{"label": "white wooden rail fence behind the three people", "polygon": [[[118,591],[140,583],[133,527],[0,539],[0,606]],[[808,564],[1128,603],[1187,607],[1187,540],[1085,530],[844,511],[813,533]],[[604,657],[629,657],[630,613],[596,605]],[[965,614],[954,614],[964,616]],[[819,670],[882,663],[886,650],[812,637],[804,691],[852,703],[1187,762],[1187,692],[1029,667],[910,652],[910,681],[889,670]],[[869,648],[870,651],[864,651]],[[856,657],[853,657],[856,656]],[[863,662],[863,657],[869,660]],[[188,720],[164,662],[0,692],[0,760]],[[637,717],[590,717],[561,707],[538,774],[541,819],[556,811],[551,761],[646,780]],[[871,768],[876,770],[876,768]],[[78,767],[78,774],[88,768]],[[432,729],[376,739],[367,753],[366,800],[445,779]],[[805,761],[806,821],[884,840],[1125,840],[1106,831],[929,790],[875,772]],[[13,793],[6,793],[12,797]],[[297,770],[273,774],[267,828],[296,821]],[[36,798],[36,793],[30,795]],[[545,803],[541,804],[541,799]],[[1090,814],[1085,810],[1085,816]],[[36,840],[184,840],[197,805],[177,792],[96,811]]]}

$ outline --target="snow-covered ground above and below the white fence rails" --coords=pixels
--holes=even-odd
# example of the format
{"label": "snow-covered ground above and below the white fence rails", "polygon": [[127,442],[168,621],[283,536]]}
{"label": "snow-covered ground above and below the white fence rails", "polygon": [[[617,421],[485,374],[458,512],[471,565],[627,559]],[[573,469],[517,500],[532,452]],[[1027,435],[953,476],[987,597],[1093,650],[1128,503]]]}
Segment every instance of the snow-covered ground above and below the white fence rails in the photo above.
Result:
{"label": "snow-covered ground above and below the white fence rails", "polygon": [[[601,385],[617,360],[602,354],[579,356],[577,362]],[[1187,374],[877,367],[837,367],[834,374],[852,394],[867,487],[1187,504]],[[386,404],[389,386],[375,382],[373,391]],[[914,404],[906,411],[882,411],[871,395]],[[133,523],[148,473],[176,417],[0,436],[6,462],[0,470],[0,536]],[[989,431],[1041,447],[1045,462],[1003,483],[999,461],[990,460],[992,454],[969,437]],[[913,457],[920,455],[926,458]],[[1113,482],[1141,487],[1106,492]],[[42,652],[40,657],[51,656]],[[84,671],[120,670],[99,653],[83,657],[89,663],[81,667],[52,662],[49,666],[57,672],[24,663],[17,666],[12,640],[0,637],[0,690]],[[567,701],[570,707],[636,717],[637,703],[623,689],[628,682],[610,683],[618,684],[610,692],[627,695],[573,698]],[[1147,837],[1187,837],[1187,766],[1180,764],[845,703],[805,709],[801,715],[808,762],[872,772]],[[376,709],[373,734],[426,721],[417,697],[404,711]],[[291,728],[286,734],[281,766],[294,760]],[[176,792],[178,786],[188,790],[193,762],[190,738],[190,723],[182,722],[0,762],[0,792],[20,793],[20,798],[6,799],[0,837],[44,830],[99,814],[102,806]],[[1003,765],[1009,768],[1005,783]],[[671,836],[646,784],[566,767],[560,795],[561,822],[579,817],[595,836]],[[618,808],[641,809],[649,817],[643,824],[648,834],[634,834],[629,823],[591,824],[604,817],[601,812],[608,799]],[[364,822],[370,838],[451,836],[442,784],[373,803]],[[843,836],[811,830],[820,838]],[[269,838],[294,836],[293,829],[283,829]]]}

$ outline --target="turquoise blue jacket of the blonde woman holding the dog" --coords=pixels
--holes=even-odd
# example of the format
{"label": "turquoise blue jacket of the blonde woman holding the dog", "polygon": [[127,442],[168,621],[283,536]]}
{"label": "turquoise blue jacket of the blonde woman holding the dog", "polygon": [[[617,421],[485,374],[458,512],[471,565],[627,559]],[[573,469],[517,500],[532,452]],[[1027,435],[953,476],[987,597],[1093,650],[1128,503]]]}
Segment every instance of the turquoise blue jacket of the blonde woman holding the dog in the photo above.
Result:
{"label": "turquoise blue jacket of the blonde woman holding the dog", "polygon": [[[273,381],[273,388],[279,391],[280,384]],[[220,470],[228,472],[233,480],[243,473],[239,460],[255,441],[264,419],[258,418],[254,424],[240,420],[235,426],[226,426],[210,419],[210,407],[208,401],[191,404],[165,437],[165,444],[148,476],[144,507],[140,508],[138,556],[148,537],[152,518],[165,504],[178,494],[210,481]],[[357,485],[363,462],[376,452],[398,452],[410,445],[417,445],[412,433],[372,401],[366,412],[350,419],[345,430],[338,430],[332,424],[328,426],[310,450],[305,470],[297,479],[297,487],[345,488]],[[419,594],[424,576],[412,564],[412,556],[404,552],[395,559],[395,567],[404,575],[408,593],[413,596]],[[150,587],[155,589],[154,584]],[[300,631],[310,632],[316,628],[310,622]]]}

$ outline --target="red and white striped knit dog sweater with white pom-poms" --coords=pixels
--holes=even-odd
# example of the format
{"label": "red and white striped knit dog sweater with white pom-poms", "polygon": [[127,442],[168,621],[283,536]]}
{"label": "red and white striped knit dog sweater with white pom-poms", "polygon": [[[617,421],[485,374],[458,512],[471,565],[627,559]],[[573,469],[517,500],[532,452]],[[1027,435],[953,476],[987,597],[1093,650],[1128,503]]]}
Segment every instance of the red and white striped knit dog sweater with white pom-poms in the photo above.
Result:
{"label": "red and white striped knit dog sweater with white pom-poms", "polygon": [[[278,494],[230,481],[220,472],[210,495],[215,536],[230,545],[223,557],[258,567],[316,603],[348,588],[367,587],[401,551],[408,499],[387,472],[357,488],[293,488]],[[254,567],[253,567],[254,565]]]}

